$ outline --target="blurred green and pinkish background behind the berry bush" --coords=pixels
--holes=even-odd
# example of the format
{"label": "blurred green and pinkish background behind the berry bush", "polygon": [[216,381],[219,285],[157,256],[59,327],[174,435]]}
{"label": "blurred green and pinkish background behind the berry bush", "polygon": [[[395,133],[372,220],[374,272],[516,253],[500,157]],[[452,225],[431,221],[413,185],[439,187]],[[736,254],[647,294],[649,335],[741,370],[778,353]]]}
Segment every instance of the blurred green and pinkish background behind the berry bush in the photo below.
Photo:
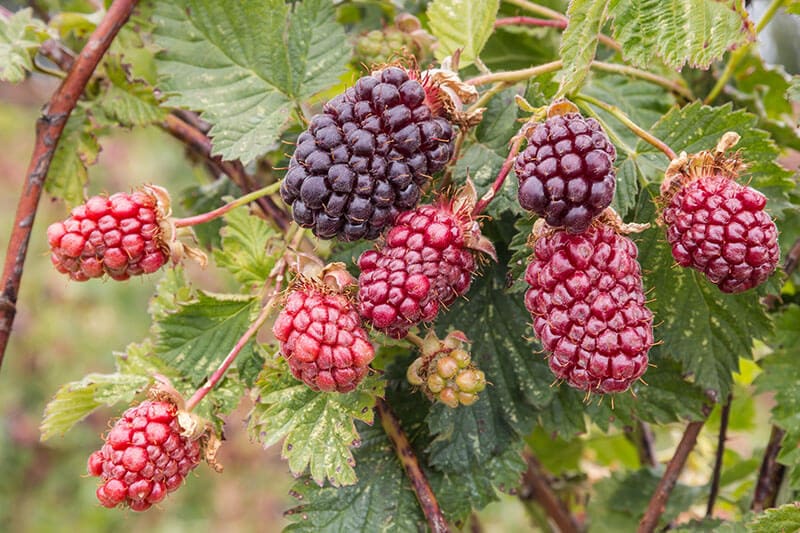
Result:
{"label": "blurred green and pinkish background behind the berry bush", "polygon": [[[797,43],[796,21],[778,22],[783,28],[780,31],[794,35],[793,40],[783,42]],[[797,50],[776,46],[769,33],[766,38],[770,43],[765,53],[783,61],[789,70],[796,70]],[[781,42],[780,36],[777,42]],[[35,120],[54,88],[55,82],[41,75],[17,86],[0,84],[3,258],[33,145]],[[797,167],[796,158],[787,163],[790,168]],[[119,130],[102,139],[99,162],[90,169],[88,192],[130,190],[143,182],[177,192],[207,183],[207,179],[202,167],[195,168],[189,162],[182,145],[157,128]],[[179,206],[177,211],[180,214]],[[287,523],[283,511],[295,503],[289,496],[293,479],[280,459],[279,447],[265,451],[249,441],[243,423],[249,410],[247,399],[228,417],[227,441],[220,452],[225,472],[215,474],[206,466],[199,467],[181,490],[147,513],[101,507],[94,495],[96,480],[85,475],[86,458],[99,448],[101,434],[109,420],[121,412],[121,406],[99,410],[63,438],[39,442],[41,415],[55,391],[87,373],[113,371],[113,352],[146,335],[147,302],[158,280],[154,275],[126,283],[68,282],[51,267],[45,238],[47,225],[66,214],[62,203],[43,198],[14,333],[0,372],[0,532],[281,530]],[[223,283],[213,266],[206,271],[190,267],[188,274],[203,288],[213,290]],[[752,363],[744,365],[739,387],[749,385],[753,371]],[[747,458],[759,457],[752,454],[763,449],[769,431],[769,398],[762,396],[754,401],[747,394],[738,398],[741,400],[732,410],[726,451],[726,464],[735,464],[738,470],[723,484],[721,513],[726,509],[733,513],[737,500],[749,497],[758,459]],[[718,420],[718,413],[712,415],[704,428],[683,482],[707,483]],[[679,425],[658,428],[660,460],[671,456],[682,429]],[[590,433],[577,450],[564,448],[546,435],[535,434],[529,442],[551,472],[581,472],[583,482],[638,464],[634,447],[621,435]],[[698,509],[700,514],[702,511]],[[515,496],[503,496],[479,517],[485,531],[514,533],[538,529],[537,514],[541,516],[535,507],[526,510]]]}

